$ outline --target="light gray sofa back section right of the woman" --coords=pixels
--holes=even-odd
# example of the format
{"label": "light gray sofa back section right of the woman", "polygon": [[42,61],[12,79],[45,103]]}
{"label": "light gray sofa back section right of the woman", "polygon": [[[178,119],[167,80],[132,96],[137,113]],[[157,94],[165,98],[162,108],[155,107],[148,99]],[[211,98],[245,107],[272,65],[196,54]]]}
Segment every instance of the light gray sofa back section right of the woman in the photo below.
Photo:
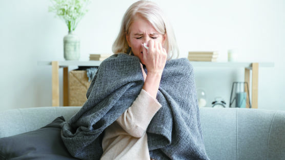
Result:
{"label": "light gray sofa back section right of the woman", "polygon": [[201,108],[205,148],[211,159],[285,159],[285,112]]}

